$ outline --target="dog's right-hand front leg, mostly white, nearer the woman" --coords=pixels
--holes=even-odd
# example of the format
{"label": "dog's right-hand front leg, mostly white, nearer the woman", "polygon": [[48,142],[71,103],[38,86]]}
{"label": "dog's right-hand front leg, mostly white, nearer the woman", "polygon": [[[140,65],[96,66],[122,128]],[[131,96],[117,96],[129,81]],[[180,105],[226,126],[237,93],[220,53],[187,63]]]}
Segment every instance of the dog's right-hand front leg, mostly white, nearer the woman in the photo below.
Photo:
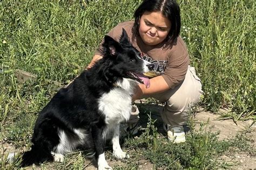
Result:
{"label": "dog's right-hand front leg, mostly white, nearer the woman", "polygon": [[122,148],[120,147],[120,144],[119,144],[119,135],[120,135],[119,126],[120,124],[114,127],[114,130],[113,130],[113,138],[112,138],[113,155],[118,159],[129,158],[129,155],[126,154],[126,152],[122,151]]}

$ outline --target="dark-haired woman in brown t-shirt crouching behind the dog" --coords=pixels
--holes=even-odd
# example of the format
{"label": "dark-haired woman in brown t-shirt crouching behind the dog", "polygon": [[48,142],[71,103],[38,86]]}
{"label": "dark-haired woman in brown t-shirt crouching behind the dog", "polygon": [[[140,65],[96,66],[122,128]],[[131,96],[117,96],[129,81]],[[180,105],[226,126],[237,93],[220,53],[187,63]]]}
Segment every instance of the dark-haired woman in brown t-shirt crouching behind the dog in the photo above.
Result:
{"label": "dark-haired woman in brown t-shirt crouching behind the dog", "polygon": [[[134,18],[134,21],[118,24],[108,33],[119,40],[124,28],[142,57],[154,64],[154,71],[147,75],[151,77],[150,87],[139,84],[133,101],[146,97],[164,101],[161,118],[167,137],[172,142],[184,142],[187,113],[198,103],[203,91],[194,67],[190,66],[187,47],[179,36],[179,6],[172,0],[145,0],[135,11]],[[99,46],[87,69],[102,58],[100,49]],[[138,113],[134,106],[125,131],[137,133]]]}

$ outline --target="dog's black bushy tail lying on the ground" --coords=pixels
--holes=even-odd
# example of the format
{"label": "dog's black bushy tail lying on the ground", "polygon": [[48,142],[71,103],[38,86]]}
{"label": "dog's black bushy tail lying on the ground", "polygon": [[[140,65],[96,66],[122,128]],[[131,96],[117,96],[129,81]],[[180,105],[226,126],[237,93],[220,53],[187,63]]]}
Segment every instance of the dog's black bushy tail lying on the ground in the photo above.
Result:
{"label": "dog's black bushy tail lying on the ground", "polygon": [[31,151],[23,153],[21,166],[39,165],[44,161],[53,161],[51,152],[46,151],[43,146],[32,145]]}

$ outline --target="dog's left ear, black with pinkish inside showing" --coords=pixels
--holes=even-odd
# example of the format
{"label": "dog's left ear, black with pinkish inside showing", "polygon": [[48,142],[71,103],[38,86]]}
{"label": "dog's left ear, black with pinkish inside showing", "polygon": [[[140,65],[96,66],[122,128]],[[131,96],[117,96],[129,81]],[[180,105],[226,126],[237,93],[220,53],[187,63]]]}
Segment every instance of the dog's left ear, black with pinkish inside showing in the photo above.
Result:
{"label": "dog's left ear, black with pinkish inside showing", "polygon": [[109,53],[111,56],[115,56],[117,51],[121,48],[120,44],[110,36],[104,37],[103,46],[105,52]]}

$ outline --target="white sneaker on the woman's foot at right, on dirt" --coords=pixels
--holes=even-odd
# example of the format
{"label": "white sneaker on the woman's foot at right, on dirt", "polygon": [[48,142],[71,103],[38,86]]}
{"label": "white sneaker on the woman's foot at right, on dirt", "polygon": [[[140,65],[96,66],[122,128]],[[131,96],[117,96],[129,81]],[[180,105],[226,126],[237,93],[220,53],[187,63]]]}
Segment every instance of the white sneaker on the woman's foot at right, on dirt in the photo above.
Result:
{"label": "white sneaker on the woman's foot at right, on dirt", "polygon": [[167,132],[167,138],[169,141],[172,141],[175,144],[186,141],[183,126],[171,126],[164,124],[164,130]]}

